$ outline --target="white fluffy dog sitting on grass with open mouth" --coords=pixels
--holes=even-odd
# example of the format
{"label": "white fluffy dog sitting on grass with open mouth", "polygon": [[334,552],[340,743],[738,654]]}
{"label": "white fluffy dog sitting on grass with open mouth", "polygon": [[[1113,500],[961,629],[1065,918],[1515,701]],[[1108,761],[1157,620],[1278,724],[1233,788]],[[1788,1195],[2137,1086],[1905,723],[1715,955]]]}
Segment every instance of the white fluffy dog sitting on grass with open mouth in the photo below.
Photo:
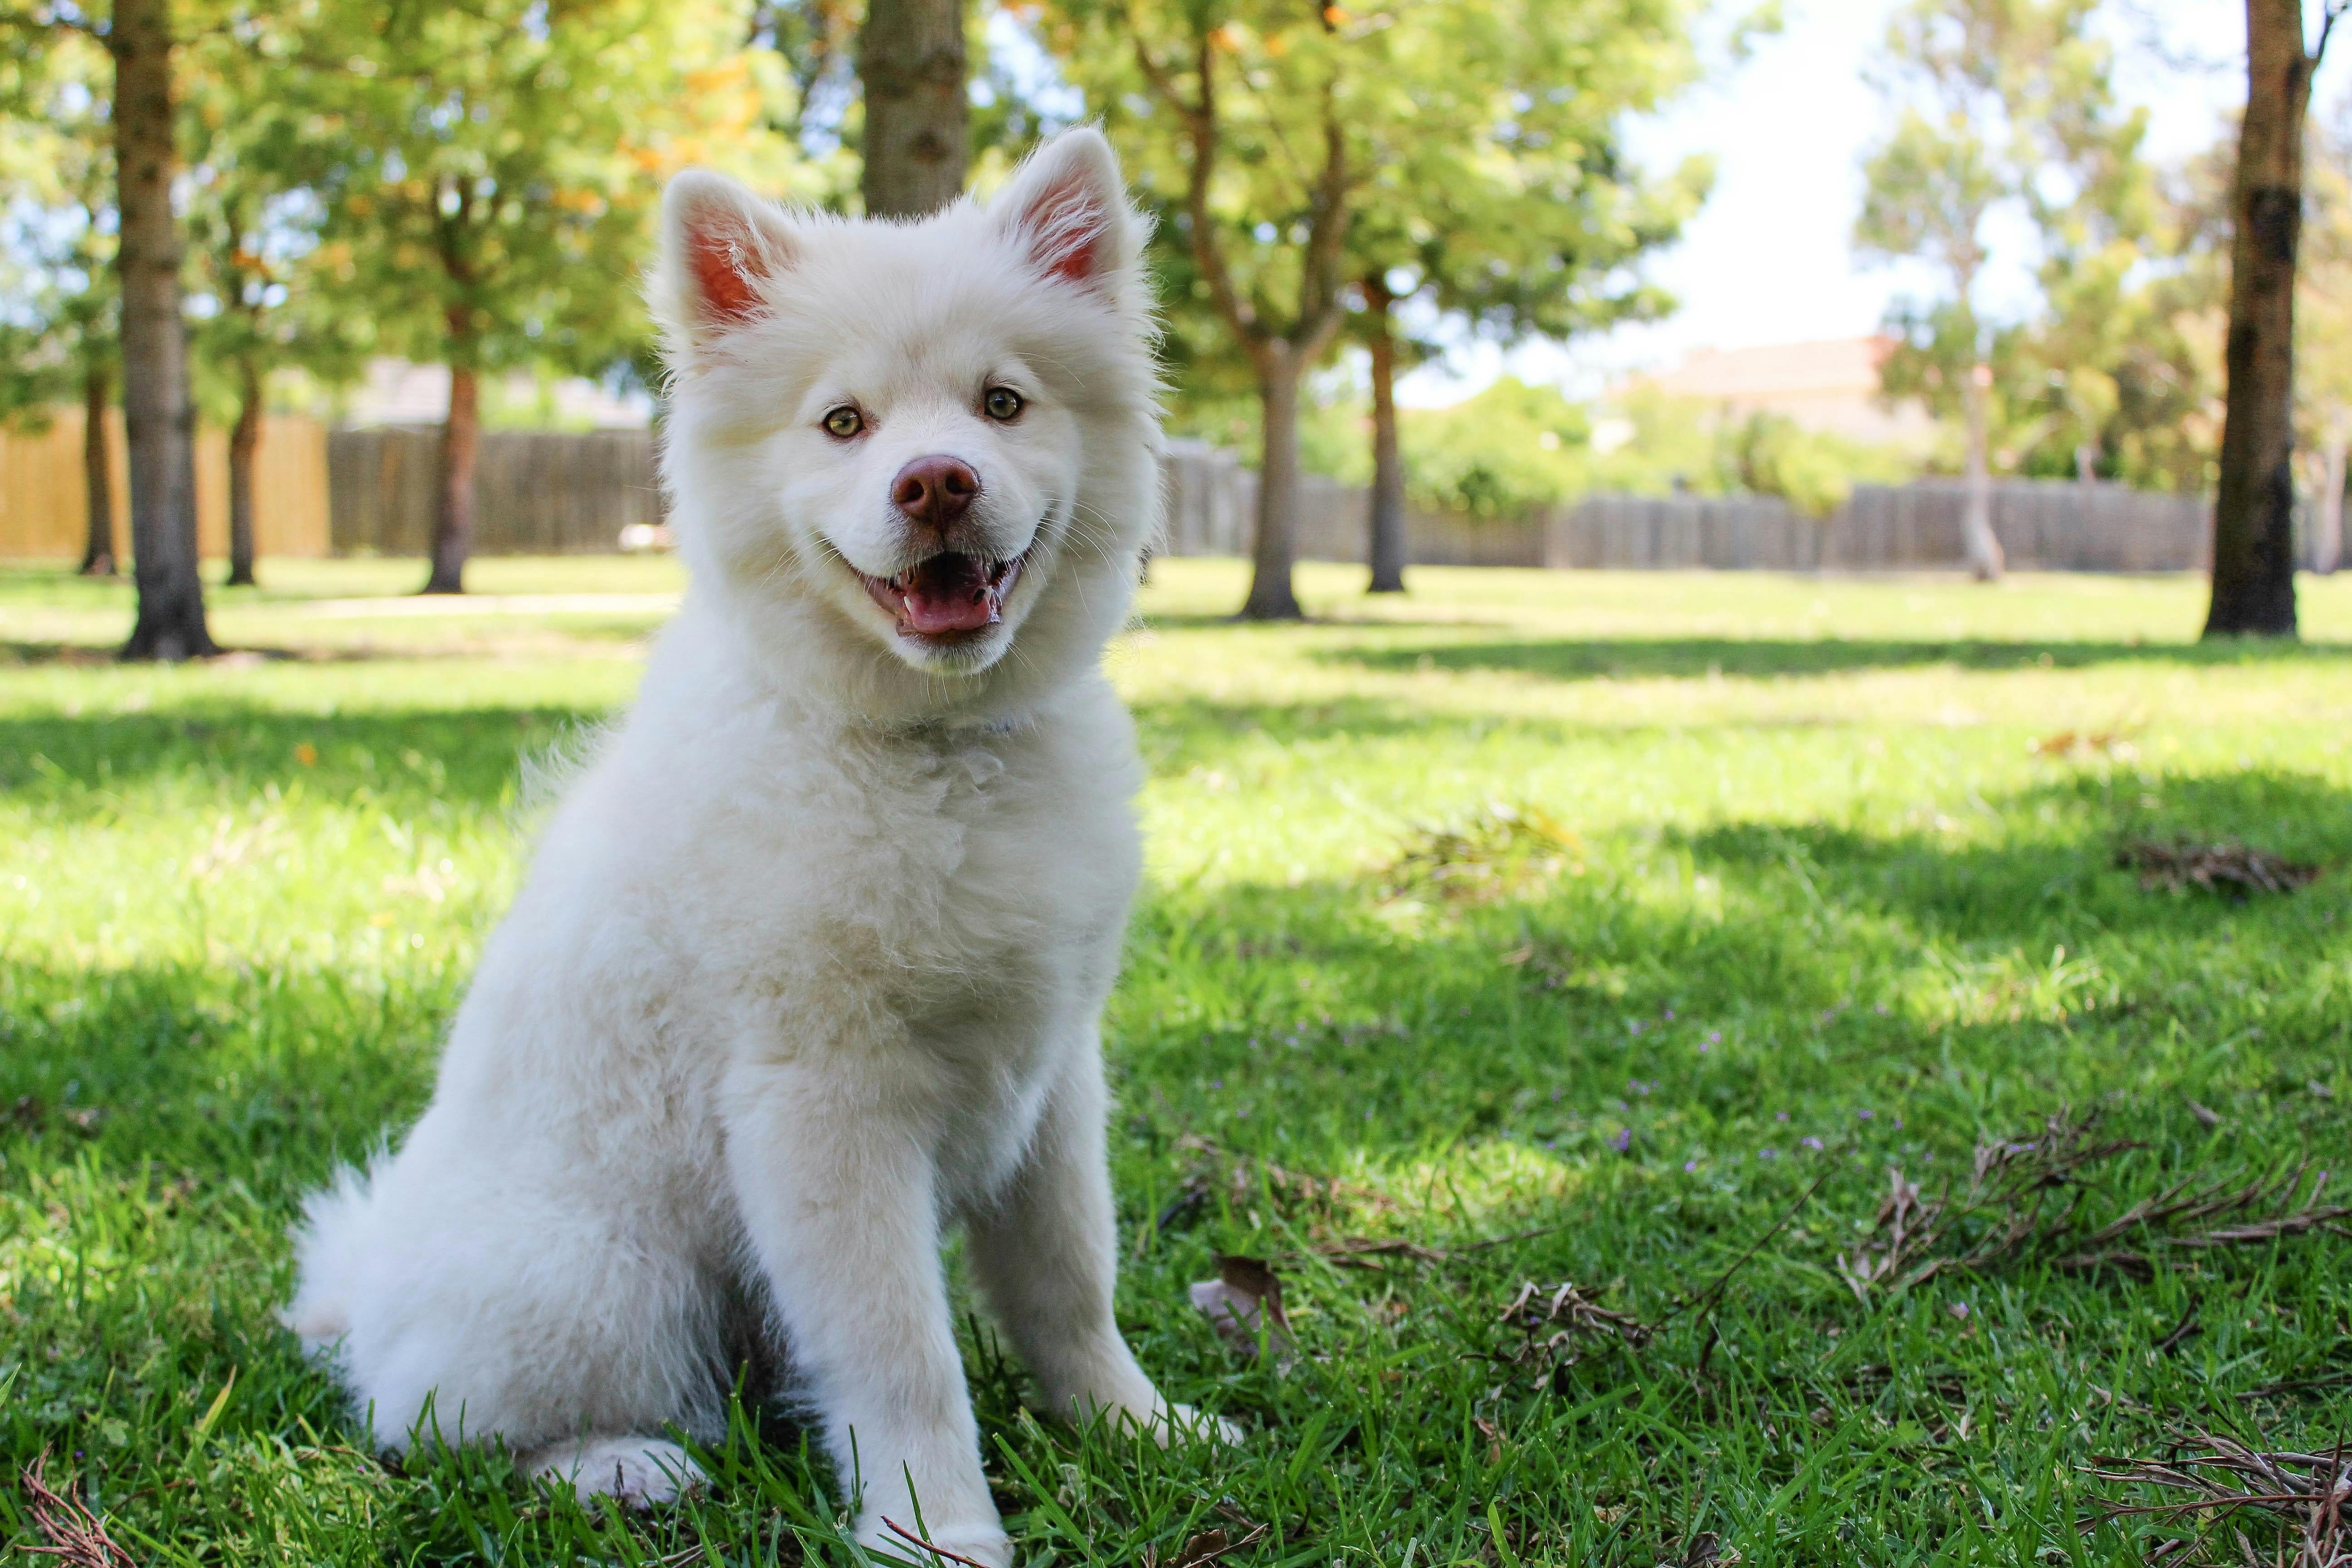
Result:
{"label": "white fluffy dog sitting on grass with open mouth", "polygon": [[[663,207],[691,590],[569,785],[407,1143],[310,1201],[294,1328],[649,1502],[781,1363],[884,1521],[1011,1556],[941,1269],[1065,1413],[1190,1427],[1110,1314],[1098,1016],[1141,764],[1098,672],[1157,515],[1141,221],[1068,132],[985,207]],[[430,1436],[430,1434],[426,1434]],[[903,1547],[901,1547],[903,1549]]]}

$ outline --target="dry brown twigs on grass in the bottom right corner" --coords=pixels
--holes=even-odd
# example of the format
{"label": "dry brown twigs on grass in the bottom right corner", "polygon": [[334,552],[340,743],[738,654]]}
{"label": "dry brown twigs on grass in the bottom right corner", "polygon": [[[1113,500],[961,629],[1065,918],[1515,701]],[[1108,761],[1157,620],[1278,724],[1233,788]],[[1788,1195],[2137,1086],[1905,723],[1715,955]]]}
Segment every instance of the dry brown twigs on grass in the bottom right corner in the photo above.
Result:
{"label": "dry brown twigs on grass in the bottom right corner", "polygon": [[[2352,1568],[2352,1448],[2284,1453],[2213,1432],[2183,1434],[2161,1458],[2098,1458],[2100,1481],[2126,1481],[2164,1502],[2103,1502],[2084,1533],[2122,1519],[2194,1526],[2157,1544],[2150,1561],[2249,1568]],[[2272,1535],[2267,1554],[2246,1535]]]}

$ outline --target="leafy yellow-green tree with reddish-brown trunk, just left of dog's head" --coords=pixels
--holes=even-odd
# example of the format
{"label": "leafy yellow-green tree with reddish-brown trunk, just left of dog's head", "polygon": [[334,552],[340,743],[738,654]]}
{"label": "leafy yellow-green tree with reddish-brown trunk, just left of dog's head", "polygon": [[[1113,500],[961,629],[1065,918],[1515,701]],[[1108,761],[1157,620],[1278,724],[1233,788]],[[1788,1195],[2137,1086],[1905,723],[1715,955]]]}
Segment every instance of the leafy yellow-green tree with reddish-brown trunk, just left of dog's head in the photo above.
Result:
{"label": "leafy yellow-green tree with reddish-brown trunk, just left of dog's head", "polygon": [[743,40],[722,0],[322,0],[289,45],[350,61],[313,71],[306,103],[339,292],[379,350],[449,369],[426,592],[463,590],[480,378],[626,362],[661,179],[781,165],[776,56]]}

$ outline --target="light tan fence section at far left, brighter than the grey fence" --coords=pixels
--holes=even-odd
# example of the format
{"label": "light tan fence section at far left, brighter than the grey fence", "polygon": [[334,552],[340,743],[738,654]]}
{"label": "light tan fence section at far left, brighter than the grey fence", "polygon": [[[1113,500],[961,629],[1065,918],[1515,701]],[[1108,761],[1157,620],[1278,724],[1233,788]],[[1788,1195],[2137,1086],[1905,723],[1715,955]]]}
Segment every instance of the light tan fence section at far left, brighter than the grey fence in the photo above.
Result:
{"label": "light tan fence section at far left, brighter than the grey fence", "polygon": [[[115,559],[129,559],[129,468],[122,414],[106,421],[113,468]],[[82,559],[89,484],[82,470],[82,411],[56,409],[49,428],[0,433],[0,557]],[[228,555],[228,433],[195,437],[195,543]],[[327,555],[327,428],[315,418],[268,414],[254,451],[254,550]]]}

